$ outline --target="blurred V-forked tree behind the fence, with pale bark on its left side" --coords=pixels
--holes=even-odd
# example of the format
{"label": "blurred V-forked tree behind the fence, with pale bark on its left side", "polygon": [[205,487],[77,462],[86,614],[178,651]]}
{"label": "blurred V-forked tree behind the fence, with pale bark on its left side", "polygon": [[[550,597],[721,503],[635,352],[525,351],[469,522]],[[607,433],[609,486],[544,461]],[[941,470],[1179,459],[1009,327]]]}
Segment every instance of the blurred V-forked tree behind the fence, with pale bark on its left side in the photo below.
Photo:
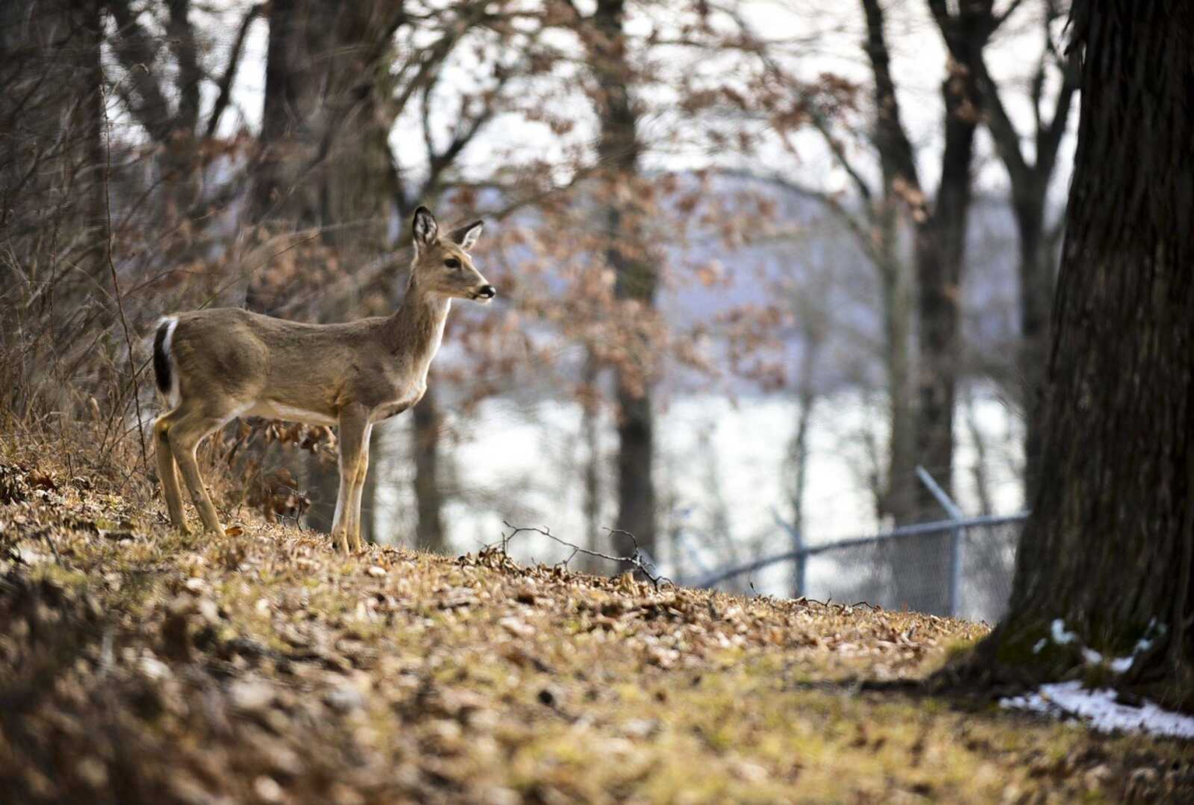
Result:
{"label": "blurred V-forked tree behind the fence, with pale bark on its left side", "polygon": [[[967,63],[981,59],[1004,17],[995,14],[989,0],[962,2],[956,8],[928,2],[947,50],[941,82],[943,147],[934,190],[921,178],[917,150],[901,115],[887,11],[879,0],[862,0],[861,6],[874,116],[868,139],[879,164],[880,186],[872,188],[830,121],[816,118],[816,124],[860,196],[862,214],[847,209],[837,198],[827,202],[849,221],[880,278],[888,447],[879,510],[894,523],[907,524],[941,516],[940,504],[917,478],[918,465],[947,491],[953,483],[961,283],[974,140],[981,115],[975,73]],[[907,233],[910,253],[904,247]],[[893,546],[887,561],[897,601],[923,612],[946,612],[946,588],[938,571],[942,545],[938,535],[924,535]]]}

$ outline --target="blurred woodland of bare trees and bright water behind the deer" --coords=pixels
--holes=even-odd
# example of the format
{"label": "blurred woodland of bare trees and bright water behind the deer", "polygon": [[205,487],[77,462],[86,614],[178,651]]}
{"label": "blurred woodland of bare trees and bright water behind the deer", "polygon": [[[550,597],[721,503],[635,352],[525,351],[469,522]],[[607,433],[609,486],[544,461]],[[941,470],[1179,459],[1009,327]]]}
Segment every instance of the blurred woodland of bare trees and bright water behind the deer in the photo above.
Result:
{"label": "blurred woodland of bare trees and bright water behind the deer", "polygon": [[[941,520],[917,466],[967,514],[1020,511],[1067,12],[7,0],[5,430],[152,484],[156,318],[389,312],[423,203],[486,219],[499,296],[457,306],[427,397],[375,431],[370,539],[473,551],[509,521],[626,552],[616,528],[683,579],[783,549],[777,520],[813,545]],[[332,434],[233,423],[201,459],[229,512],[330,526]],[[940,612],[940,549],[874,560]]]}

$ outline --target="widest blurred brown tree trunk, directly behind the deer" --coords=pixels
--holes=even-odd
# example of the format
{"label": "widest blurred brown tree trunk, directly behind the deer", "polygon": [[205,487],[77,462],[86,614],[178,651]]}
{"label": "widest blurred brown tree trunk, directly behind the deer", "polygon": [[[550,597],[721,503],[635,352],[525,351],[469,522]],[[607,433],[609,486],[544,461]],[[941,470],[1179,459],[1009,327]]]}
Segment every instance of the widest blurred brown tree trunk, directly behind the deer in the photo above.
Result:
{"label": "widest blurred brown tree trunk, directly behind the deer", "polygon": [[[396,188],[383,60],[402,19],[401,4],[374,0],[338,7],[276,0],[269,14],[261,153],[250,217],[283,229],[321,227],[321,242],[336,248],[343,265],[361,265],[389,246]],[[269,313],[285,301],[279,290],[285,289],[250,282],[246,305]],[[310,315],[334,321],[384,312],[362,311],[358,302],[324,302]],[[374,448],[381,444],[373,442]],[[371,466],[381,457],[371,449]],[[330,530],[339,471],[318,456],[308,459],[304,469],[312,498],[307,523]],[[375,483],[371,469],[367,484]],[[368,497],[374,497],[373,490]],[[371,517],[365,522],[373,523]]]}

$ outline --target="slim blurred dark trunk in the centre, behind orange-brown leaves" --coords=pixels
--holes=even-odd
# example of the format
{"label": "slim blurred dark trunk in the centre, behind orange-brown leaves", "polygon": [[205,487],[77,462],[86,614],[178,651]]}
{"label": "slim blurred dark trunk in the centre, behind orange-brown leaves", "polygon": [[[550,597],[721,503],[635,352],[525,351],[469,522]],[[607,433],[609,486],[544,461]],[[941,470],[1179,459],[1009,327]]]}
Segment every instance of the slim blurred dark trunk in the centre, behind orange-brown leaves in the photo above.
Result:
{"label": "slim blurred dark trunk in the centre, behind orange-brown leaves", "polygon": [[[639,177],[638,111],[630,98],[633,70],[622,31],[623,0],[598,0],[592,16],[590,59],[599,81],[602,164],[609,168],[607,192],[607,252],[617,274],[615,293],[621,300],[654,305],[657,277],[645,253],[641,210],[634,208]],[[654,414],[651,407],[651,345],[640,339],[632,351],[633,367],[618,365],[617,387],[617,528],[633,534],[640,548],[656,551]],[[621,551],[629,545],[616,546]]]}

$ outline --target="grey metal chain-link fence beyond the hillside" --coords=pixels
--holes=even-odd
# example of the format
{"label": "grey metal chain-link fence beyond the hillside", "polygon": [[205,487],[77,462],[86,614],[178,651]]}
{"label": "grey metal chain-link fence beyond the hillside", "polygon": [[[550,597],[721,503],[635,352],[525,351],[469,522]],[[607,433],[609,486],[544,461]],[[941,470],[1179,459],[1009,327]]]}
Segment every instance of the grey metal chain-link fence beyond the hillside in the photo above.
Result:
{"label": "grey metal chain-link fence beyond the hillside", "polygon": [[710,573],[694,586],[739,582],[787,569],[790,590],[820,601],[866,601],[885,609],[995,622],[1011,595],[1016,546],[1027,514],[906,526],[885,534],[802,545]]}

